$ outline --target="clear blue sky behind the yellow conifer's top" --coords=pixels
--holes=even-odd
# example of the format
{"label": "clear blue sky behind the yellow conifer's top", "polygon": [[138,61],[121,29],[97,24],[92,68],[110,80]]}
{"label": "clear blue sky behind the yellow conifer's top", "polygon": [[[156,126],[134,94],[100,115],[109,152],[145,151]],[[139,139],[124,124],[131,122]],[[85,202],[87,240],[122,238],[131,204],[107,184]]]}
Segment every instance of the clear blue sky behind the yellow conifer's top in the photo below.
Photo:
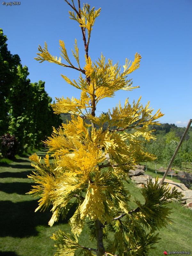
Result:
{"label": "clear blue sky behind the yellow conifer's top", "polygon": [[[18,54],[22,65],[28,67],[31,82],[45,81],[45,90],[53,100],[62,96],[79,98],[80,91],[60,76],[77,79],[78,71],[34,60],[38,44],[44,46],[44,41],[49,52],[59,57],[60,39],[71,56],[76,38],[84,65],[81,30],[69,19],[68,4],[64,0],[20,0],[20,5],[12,6],[2,2],[0,27],[8,38],[10,52]],[[114,98],[101,101],[97,111],[106,112],[119,100],[124,105],[127,97],[132,102],[141,95],[141,102],[146,104],[150,100],[154,112],[161,108],[161,123],[186,126],[192,118],[192,0],[87,2],[95,9],[101,7],[89,45],[92,60],[97,60],[102,52],[106,59],[112,59],[114,64],[119,61],[123,66],[125,58],[134,60],[136,52],[142,56],[140,68],[130,75],[133,84],[140,88],[117,92]]]}

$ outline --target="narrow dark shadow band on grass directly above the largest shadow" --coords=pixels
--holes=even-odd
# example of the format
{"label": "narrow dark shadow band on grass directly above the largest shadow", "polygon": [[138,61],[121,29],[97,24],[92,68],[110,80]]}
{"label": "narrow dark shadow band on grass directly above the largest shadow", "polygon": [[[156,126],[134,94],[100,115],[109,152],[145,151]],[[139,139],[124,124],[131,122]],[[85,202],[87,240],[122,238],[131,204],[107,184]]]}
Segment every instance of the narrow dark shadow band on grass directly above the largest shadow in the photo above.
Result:
{"label": "narrow dark shadow band on grass directly above the largest shadow", "polygon": [[7,194],[17,193],[19,195],[25,195],[29,192],[35,183],[28,182],[11,182],[11,183],[0,183],[0,191]]}

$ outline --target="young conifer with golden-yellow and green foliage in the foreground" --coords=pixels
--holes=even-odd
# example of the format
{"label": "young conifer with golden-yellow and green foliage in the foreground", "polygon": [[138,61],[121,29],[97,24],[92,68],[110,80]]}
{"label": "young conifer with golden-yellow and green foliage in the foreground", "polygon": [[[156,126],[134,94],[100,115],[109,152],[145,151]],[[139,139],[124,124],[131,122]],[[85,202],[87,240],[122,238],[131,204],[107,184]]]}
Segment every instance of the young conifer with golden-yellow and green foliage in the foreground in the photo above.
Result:
{"label": "young conifer with golden-yellow and green foliage in the foreground", "polygon": [[[106,61],[102,54],[93,62],[88,49],[92,27],[100,9],[90,9],[88,4],[81,9],[79,0],[76,8],[73,0],[71,4],[65,1],[73,10],[69,12],[70,18],[79,24],[82,31],[85,65],[80,65],[76,40],[75,50],[72,51],[76,66],[68,58],[63,41],[60,41],[60,50],[65,63],[48,52],[46,43],[44,48],[39,46],[36,60],[47,60],[79,71],[78,81],[71,81],[65,75],[62,77],[68,84],[81,90],[81,97],[62,97],[53,105],[56,114],[70,113],[72,120],[54,129],[52,137],[46,141],[54,157],[52,163],[48,154],[44,163],[36,154],[30,157],[36,172],[29,178],[35,180],[36,186],[29,193],[41,197],[36,211],[52,205],[51,226],[60,217],[66,218],[70,208],[76,206],[69,220],[71,234],[61,230],[53,234],[58,248],[55,255],[148,255],[149,249],[159,239],[154,232],[170,221],[169,199],[178,198],[180,194],[175,189],[170,192],[166,186],[160,186],[157,180],[155,184],[150,181],[141,189],[145,203],[135,198],[137,207],[130,209],[131,195],[125,181],[129,177],[129,170],[139,160],[154,159],[142,148],[140,137],[148,141],[152,138],[148,125],[158,124],[156,119],[162,113],[158,110],[153,115],[149,103],[142,106],[139,99],[131,105],[127,99],[123,106],[119,102],[107,113],[99,117],[95,115],[100,100],[113,97],[120,89],[130,91],[136,88],[128,75],[139,68],[141,56],[136,53],[132,63],[126,59],[123,72],[118,64],[114,65],[112,60]],[[86,124],[85,119],[90,120],[91,124]],[[107,130],[102,129],[104,122],[108,122]],[[100,127],[98,130],[95,124]],[[111,129],[113,125],[117,128]],[[130,128],[134,128],[135,132],[126,133]],[[106,161],[107,153],[109,161]],[[94,246],[86,247],[78,242],[85,222],[90,240],[95,240]],[[108,234],[111,233],[113,235],[109,239]]]}

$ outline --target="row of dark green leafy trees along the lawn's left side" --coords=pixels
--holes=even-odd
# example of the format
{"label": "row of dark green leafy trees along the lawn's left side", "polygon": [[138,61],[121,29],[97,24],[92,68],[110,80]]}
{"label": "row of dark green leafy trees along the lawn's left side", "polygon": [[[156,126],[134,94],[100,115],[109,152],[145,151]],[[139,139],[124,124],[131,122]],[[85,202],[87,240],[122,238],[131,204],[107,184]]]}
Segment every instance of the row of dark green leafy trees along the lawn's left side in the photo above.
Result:
{"label": "row of dark green leafy trees along the lawn's left side", "polygon": [[11,138],[14,135],[17,152],[22,152],[39,148],[42,140],[51,135],[52,126],[58,127],[62,120],[53,113],[52,98],[45,91],[45,82],[30,82],[28,67],[22,67],[18,54],[12,55],[8,51],[7,40],[0,29],[1,145],[7,147],[11,141],[13,143]]}

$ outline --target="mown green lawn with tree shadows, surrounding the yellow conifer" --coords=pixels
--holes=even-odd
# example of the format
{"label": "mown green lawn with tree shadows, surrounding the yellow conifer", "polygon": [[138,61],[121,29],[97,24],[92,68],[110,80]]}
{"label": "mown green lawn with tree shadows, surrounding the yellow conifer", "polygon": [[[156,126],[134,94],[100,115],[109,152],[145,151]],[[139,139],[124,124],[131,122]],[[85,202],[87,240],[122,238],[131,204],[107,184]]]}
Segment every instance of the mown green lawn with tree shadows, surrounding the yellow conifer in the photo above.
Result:
{"label": "mown green lawn with tree shadows, surrounding the yellow conifer", "polygon": [[[37,154],[44,156],[45,152],[42,150]],[[34,212],[38,199],[25,194],[33,185],[33,181],[27,178],[31,170],[28,156],[20,156],[9,164],[0,164],[0,256],[53,256],[56,248],[50,236],[58,229],[70,232],[67,221],[75,209],[69,212],[67,220],[59,221],[53,227],[47,224],[51,218],[50,211]],[[156,176],[152,165],[148,165],[147,173]],[[158,174],[161,177],[161,173]],[[139,188],[133,183],[126,186],[133,196],[141,199]],[[130,205],[134,207],[134,202],[131,201]],[[161,229],[162,239],[149,256],[164,255],[165,250],[191,250],[192,253],[192,212],[179,203],[171,203],[171,206],[174,223]],[[79,243],[93,246],[94,242],[89,242],[86,229],[80,236]]]}

